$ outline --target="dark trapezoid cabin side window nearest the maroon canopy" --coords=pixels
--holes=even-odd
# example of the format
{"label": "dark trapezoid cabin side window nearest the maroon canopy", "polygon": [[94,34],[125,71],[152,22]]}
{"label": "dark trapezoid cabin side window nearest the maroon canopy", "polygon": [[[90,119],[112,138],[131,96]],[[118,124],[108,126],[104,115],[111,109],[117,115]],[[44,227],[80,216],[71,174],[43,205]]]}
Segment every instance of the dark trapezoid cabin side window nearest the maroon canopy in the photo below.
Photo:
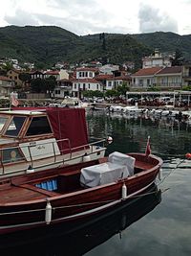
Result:
{"label": "dark trapezoid cabin side window nearest the maroon canopy", "polygon": [[53,133],[46,116],[33,117],[30,127],[27,130],[27,136]]}

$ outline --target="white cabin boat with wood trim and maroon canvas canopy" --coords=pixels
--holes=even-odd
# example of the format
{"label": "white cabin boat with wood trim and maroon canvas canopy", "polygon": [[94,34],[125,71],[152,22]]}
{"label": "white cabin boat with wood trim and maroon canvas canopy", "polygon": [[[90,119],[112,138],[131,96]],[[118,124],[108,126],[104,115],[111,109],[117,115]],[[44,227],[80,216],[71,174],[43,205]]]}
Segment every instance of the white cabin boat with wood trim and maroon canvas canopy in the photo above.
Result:
{"label": "white cabin boat with wood trim and maroon canvas canopy", "polygon": [[83,108],[0,111],[0,178],[103,157],[105,142],[89,142]]}

